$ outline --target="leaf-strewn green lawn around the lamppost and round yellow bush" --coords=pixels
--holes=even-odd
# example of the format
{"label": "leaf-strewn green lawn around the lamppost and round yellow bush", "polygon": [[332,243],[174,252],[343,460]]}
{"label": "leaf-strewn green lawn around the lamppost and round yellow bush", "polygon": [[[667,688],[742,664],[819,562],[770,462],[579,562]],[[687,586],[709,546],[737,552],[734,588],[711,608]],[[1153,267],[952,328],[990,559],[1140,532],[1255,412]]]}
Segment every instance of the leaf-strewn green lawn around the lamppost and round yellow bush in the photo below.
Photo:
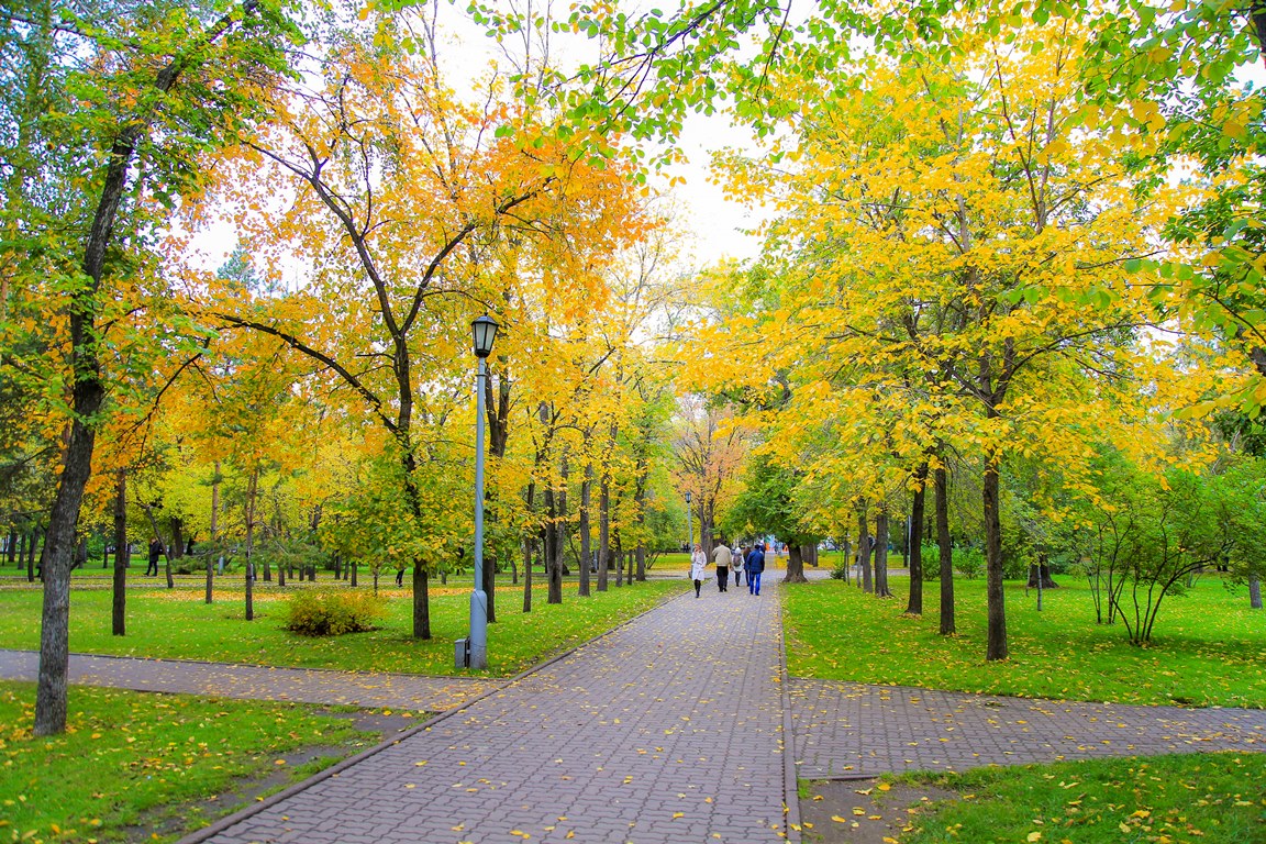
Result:
{"label": "leaf-strewn green lawn around the lamppost and round yellow bush", "polygon": [[[290,590],[294,587],[286,587]],[[306,586],[305,586],[306,588]],[[362,581],[357,587],[368,590]],[[489,625],[489,671],[510,676],[552,653],[572,648],[660,601],[684,592],[685,580],[647,581],[594,592],[580,599],[565,585],[563,604],[546,604],[544,585],[533,590],[524,614],[523,587],[496,592],[496,624]],[[241,588],[219,586],[215,604],[203,602],[201,588],[128,591],[128,635],[110,635],[109,590],[75,590],[71,595],[71,650],[130,657],[166,657],[300,668],[391,671],[452,674],[453,640],[467,634],[470,586],[432,588],[430,640],[413,638],[413,602],[404,590],[380,590],[387,606],[381,629],[313,639],[282,629],[286,590],[258,588],[254,620],[246,620]],[[0,591],[0,648],[39,648],[42,593]]]}

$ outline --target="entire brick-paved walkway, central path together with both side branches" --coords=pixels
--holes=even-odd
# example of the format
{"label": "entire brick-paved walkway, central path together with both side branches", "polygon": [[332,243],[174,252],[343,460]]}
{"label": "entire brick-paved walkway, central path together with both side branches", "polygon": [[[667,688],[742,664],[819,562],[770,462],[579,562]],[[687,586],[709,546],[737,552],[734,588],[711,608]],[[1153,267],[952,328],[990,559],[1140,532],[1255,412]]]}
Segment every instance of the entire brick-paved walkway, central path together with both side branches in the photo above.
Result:
{"label": "entire brick-paved walkway, central path together with both side branches", "polygon": [[[780,576],[770,572],[760,599],[738,587],[675,599],[509,683],[81,655],[72,657],[72,682],[462,707],[182,844],[758,844],[799,839],[787,822],[796,820],[796,774],[1266,750],[1261,710],[789,681]],[[0,650],[0,677],[34,673],[34,654]]]}

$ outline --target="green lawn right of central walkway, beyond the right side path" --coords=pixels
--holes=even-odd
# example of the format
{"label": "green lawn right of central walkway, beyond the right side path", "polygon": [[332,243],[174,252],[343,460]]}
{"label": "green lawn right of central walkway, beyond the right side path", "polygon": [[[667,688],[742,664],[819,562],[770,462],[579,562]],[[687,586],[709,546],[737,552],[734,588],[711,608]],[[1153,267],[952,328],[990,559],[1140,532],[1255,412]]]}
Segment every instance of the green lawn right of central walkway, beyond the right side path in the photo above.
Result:
{"label": "green lawn right of central walkway, beyond the right side path", "polygon": [[985,662],[985,583],[956,581],[958,635],[938,630],[939,586],[922,617],[901,615],[909,581],[879,600],[842,581],[786,590],[787,667],[800,677],[1023,697],[1266,707],[1266,612],[1206,576],[1161,607],[1156,640],[1137,648],[1120,624],[1096,625],[1087,588],[1071,576],[1044,592],[1006,585],[1010,658]]}

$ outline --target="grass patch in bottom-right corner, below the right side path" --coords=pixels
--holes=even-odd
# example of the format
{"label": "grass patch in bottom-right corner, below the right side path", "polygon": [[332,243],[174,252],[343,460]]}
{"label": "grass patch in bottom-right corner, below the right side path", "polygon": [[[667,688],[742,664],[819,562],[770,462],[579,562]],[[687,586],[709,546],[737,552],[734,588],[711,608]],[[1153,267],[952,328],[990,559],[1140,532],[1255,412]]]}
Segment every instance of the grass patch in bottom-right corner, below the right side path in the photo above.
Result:
{"label": "grass patch in bottom-right corner, below the right side path", "polygon": [[1261,753],[1095,759],[899,781],[961,796],[920,814],[903,844],[1266,840]]}

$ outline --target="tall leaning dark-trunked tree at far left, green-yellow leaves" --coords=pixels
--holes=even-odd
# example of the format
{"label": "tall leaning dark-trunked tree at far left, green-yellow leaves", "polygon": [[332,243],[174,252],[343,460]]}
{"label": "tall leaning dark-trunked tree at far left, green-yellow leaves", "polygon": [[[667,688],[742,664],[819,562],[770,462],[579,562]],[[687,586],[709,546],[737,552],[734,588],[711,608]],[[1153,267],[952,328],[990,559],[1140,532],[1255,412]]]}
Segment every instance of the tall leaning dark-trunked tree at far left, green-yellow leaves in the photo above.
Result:
{"label": "tall leaning dark-trunked tree at far left, green-yellow leaves", "polygon": [[[65,96],[67,105],[34,123],[30,100],[5,115],[16,118],[15,135],[38,134],[46,151],[38,158],[24,154],[20,175],[10,175],[53,186],[6,206],[10,219],[22,219],[24,227],[20,240],[6,243],[5,252],[20,244],[32,258],[18,280],[41,291],[47,313],[63,315],[60,330],[66,338],[61,368],[39,376],[65,382],[68,401],[61,409],[66,444],[44,566],[38,735],[61,733],[66,723],[70,571],[108,394],[104,367],[111,345],[103,335],[111,324],[105,316],[125,292],[124,280],[146,263],[138,244],[166,216],[173,196],[196,186],[196,156],[253,115],[254,97],[244,89],[260,73],[284,66],[290,34],[273,4],[254,0],[223,16],[184,4],[119,4],[113,11],[81,15],[72,4],[33,3],[8,6],[0,15],[6,35],[30,33],[30,61],[16,71],[23,75],[18,90],[44,89],[43,101]],[[34,149],[19,143],[27,153]],[[105,154],[97,156],[99,149]],[[15,192],[8,199],[16,199]],[[128,247],[120,248],[124,243]]]}

